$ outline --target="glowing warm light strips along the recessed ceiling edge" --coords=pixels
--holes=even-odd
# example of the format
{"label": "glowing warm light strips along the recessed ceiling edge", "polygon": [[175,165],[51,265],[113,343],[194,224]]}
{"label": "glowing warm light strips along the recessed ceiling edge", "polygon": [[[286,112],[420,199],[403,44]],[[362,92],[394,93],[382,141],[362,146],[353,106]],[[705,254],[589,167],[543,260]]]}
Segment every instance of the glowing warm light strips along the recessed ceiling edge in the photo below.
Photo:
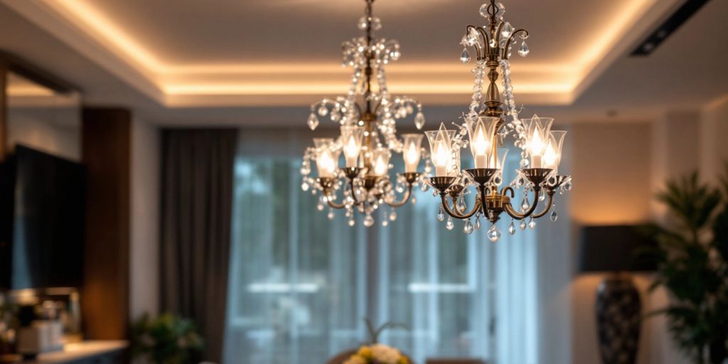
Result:
{"label": "glowing warm light strips along the recessed ceiling edge", "polygon": [[[166,95],[320,95],[328,93],[341,84],[317,84],[322,73],[332,74],[330,64],[314,64],[296,66],[290,64],[278,65],[251,65],[245,63],[229,64],[198,64],[185,65],[173,64],[162,60],[159,55],[147,47],[143,39],[135,39],[124,29],[124,25],[115,21],[113,16],[106,14],[98,4],[89,0],[41,0],[46,10],[60,15],[68,20],[75,28],[80,29],[86,36],[95,39],[102,47],[111,51],[117,58],[129,63],[133,68],[141,71],[149,82],[156,85]],[[617,42],[625,35],[626,31],[644,15],[647,10],[657,3],[657,0],[633,0],[623,1],[620,7],[615,7],[614,14],[605,14],[602,19],[595,21],[597,24],[605,24],[600,31],[595,31],[596,36],[585,39],[585,44],[574,47],[580,50],[578,58],[566,59],[558,64],[526,64],[514,68],[514,71],[521,74],[542,75],[545,70],[554,73],[554,82],[532,82],[528,79],[523,83],[516,82],[515,87],[521,94],[559,94],[568,95],[568,98],[554,98],[557,102],[571,100],[576,95],[579,84],[587,78],[598,63],[604,59],[614,48]],[[12,4],[11,4],[12,5]],[[18,5],[27,7],[28,5]],[[32,6],[32,5],[31,5]],[[618,14],[617,14],[618,12]],[[451,63],[422,63],[413,65],[402,65],[392,67],[390,73],[400,74],[427,74],[432,73],[431,82],[421,79],[404,79],[403,83],[397,82],[398,86],[393,87],[393,92],[408,94],[432,94],[432,95],[456,95],[461,94],[466,82],[446,82],[440,79],[447,79],[446,74],[462,71],[462,68],[453,66]],[[304,77],[300,84],[269,84],[263,82],[249,82],[245,79],[246,74],[296,74]],[[341,72],[334,71],[333,74]],[[566,79],[560,74],[569,74]],[[218,75],[233,79],[233,84],[215,84],[205,81],[189,81],[194,75]],[[240,80],[236,80],[237,79]],[[528,78],[527,76],[524,78]],[[171,79],[171,81],[170,81]],[[316,87],[311,87],[311,84]],[[545,100],[548,100],[547,98]]]}

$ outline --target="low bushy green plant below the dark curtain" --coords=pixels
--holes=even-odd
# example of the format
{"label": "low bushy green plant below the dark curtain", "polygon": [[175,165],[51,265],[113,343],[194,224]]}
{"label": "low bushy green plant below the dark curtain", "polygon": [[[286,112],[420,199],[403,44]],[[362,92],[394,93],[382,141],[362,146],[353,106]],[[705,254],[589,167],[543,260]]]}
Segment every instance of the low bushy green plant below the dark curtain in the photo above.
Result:
{"label": "low bushy green plant below the dark curtain", "polygon": [[132,356],[146,357],[154,364],[191,363],[192,353],[203,347],[192,320],[174,314],[156,319],[144,314],[132,325]]}

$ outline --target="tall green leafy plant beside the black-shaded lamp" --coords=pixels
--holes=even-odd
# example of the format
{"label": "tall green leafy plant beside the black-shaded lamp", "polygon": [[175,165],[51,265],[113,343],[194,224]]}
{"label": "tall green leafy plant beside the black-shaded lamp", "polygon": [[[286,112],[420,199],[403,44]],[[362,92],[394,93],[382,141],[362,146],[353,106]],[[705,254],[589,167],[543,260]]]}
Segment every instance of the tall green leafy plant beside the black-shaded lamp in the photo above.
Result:
{"label": "tall green leafy plant beside the black-shaded lamp", "polygon": [[651,290],[664,287],[665,314],[673,339],[696,363],[728,358],[728,165],[721,186],[701,183],[697,173],[669,181],[657,199],[668,207],[669,226],[648,232],[660,247]]}

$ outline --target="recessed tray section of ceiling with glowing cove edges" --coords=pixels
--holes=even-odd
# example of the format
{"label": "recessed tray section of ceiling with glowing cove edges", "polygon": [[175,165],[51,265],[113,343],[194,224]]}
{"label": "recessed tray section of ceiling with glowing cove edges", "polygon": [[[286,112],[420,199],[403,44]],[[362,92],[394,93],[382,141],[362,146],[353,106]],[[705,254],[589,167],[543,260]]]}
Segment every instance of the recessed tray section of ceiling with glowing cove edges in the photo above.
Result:
{"label": "recessed tray section of ceiling with glowing cove edges", "polygon": [[[568,105],[678,0],[502,0],[529,28],[514,63],[521,102]],[[304,106],[347,87],[341,34],[361,0],[4,0],[4,4],[167,107]],[[377,0],[381,36],[400,40],[391,91],[426,105],[467,105],[472,67],[459,62],[477,2]]]}

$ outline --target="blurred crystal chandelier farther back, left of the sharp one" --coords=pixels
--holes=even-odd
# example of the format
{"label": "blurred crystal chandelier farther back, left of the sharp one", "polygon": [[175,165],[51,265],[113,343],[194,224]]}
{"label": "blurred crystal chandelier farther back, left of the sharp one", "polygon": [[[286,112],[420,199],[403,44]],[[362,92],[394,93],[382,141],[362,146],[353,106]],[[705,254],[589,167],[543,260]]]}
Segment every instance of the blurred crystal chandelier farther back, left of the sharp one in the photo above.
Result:
{"label": "blurred crystal chandelier farther back, left of the sharp one", "polygon": [[[314,146],[306,149],[301,166],[301,189],[320,192],[318,210],[328,206],[328,218],[333,210],[346,210],[349,226],[355,225],[355,211],[365,215],[365,226],[373,226],[372,213],[387,206],[381,221],[387,226],[395,221],[395,207],[411,200],[416,184],[425,185],[424,175],[417,173],[420,159],[425,159],[425,172],[430,160],[422,149],[422,134],[405,134],[397,138],[395,121],[415,114],[417,129],[424,125],[422,105],[412,98],[389,95],[384,65],[400,58],[397,41],[374,39],[374,32],[381,28],[381,20],[372,15],[374,0],[366,0],[366,15],[359,20],[358,28],[364,35],[344,41],[343,66],[354,70],[351,86],[346,96],[325,98],[311,106],[308,125],[315,130],[319,117],[328,117],[340,124],[339,138],[314,138]],[[376,81],[373,79],[376,77]],[[402,153],[405,173],[389,178],[392,153]],[[339,157],[344,154],[346,167],[339,168]],[[310,177],[311,164],[315,162],[318,178]],[[344,197],[337,202],[339,191]],[[403,194],[398,197],[397,194]]]}

